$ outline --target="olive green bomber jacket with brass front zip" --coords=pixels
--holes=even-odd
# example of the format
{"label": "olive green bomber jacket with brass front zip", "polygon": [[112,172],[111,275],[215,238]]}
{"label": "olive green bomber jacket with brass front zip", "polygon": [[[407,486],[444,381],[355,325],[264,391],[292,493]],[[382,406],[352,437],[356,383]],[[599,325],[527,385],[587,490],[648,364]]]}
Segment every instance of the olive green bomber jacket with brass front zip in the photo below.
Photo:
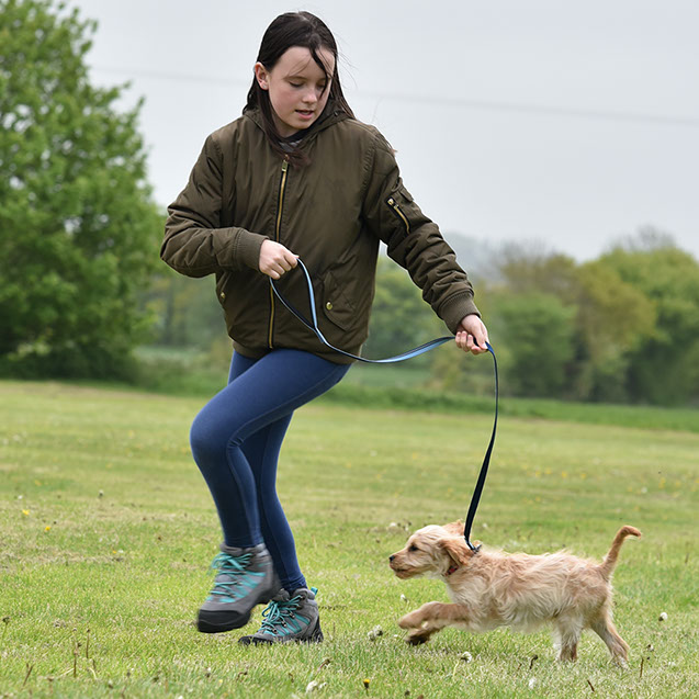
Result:
{"label": "olive green bomber jacket with brass front zip", "polygon": [[[353,354],[368,336],[380,240],[452,332],[478,313],[453,250],[403,187],[394,151],[374,127],[328,104],[302,143],[309,165],[289,165],[270,147],[259,113],[246,111],[208,136],[168,208],[161,258],[189,277],[216,275],[237,351],[260,357],[294,348],[351,361],[274,297],[258,267],[267,238],[301,257],[314,280],[323,335]],[[284,274],[278,288],[309,315],[301,270]]]}

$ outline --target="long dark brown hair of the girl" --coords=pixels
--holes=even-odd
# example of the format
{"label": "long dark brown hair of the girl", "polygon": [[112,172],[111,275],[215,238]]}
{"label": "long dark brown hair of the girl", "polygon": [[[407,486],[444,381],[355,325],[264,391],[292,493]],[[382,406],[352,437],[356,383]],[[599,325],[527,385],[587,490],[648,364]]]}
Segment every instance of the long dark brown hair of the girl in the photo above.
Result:
{"label": "long dark brown hair of the girl", "polygon": [[[337,43],[325,22],[311,12],[285,12],[280,14],[268,27],[262,36],[257,60],[269,71],[274,68],[277,61],[292,46],[307,48],[318,67],[325,72],[330,83],[328,103],[332,102],[334,109],[345,112],[353,117],[354,114],[342,94],[342,86],[337,70]],[[335,57],[335,71],[329,76],[325,64],[318,56],[318,50],[325,48]],[[298,149],[284,150],[281,146],[281,136],[274,124],[272,105],[269,92],[262,90],[257,78],[252,79],[252,86],[248,92],[248,103],[245,111],[259,109],[262,115],[264,133],[270,145],[280,155],[288,157],[294,165],[307,165],[307,157]]]}

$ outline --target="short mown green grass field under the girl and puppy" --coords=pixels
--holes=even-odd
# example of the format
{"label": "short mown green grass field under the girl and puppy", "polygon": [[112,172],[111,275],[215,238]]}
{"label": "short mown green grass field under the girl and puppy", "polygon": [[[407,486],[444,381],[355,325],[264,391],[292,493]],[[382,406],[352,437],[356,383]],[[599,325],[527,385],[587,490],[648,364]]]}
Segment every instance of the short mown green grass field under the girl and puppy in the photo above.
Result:
{"label": "short mown green grass field under the girl and puppy", "polygon": [[312,681],[318,697],[699,696],[696,431],[500,422],[475,538],[599,559],[619,526],[644,532],[615,576],[631,646],[621,669],[589,633],[576,665],[555,663],[545,631],[404,643],[396,619],[446,591],[396,579],[386,557],[406,530],[464,516],[489,437],[483,413],[300,410],[279,491],[326,642],[257,649],[236,644],[243,632],[199,634],[219,540],[188,446],[201,405],[0,383],[0,696],[302,697]]}

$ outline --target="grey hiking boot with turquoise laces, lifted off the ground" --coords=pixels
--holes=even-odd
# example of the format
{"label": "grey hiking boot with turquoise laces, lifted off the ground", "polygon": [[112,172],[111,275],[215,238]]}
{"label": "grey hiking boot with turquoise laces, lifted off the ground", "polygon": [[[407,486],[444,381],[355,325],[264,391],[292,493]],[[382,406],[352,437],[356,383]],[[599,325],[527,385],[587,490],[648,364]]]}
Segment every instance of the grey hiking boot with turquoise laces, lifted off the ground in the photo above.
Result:
{"label": "grey hiking boot with turquoise laces, lifted off the ground", "polygon": [[196,627],[204,633],[239,629],[256,605],[268,602],[280,588],[272,559],[263,543],[252,549],[221,544],[211,567],[218,571]]}

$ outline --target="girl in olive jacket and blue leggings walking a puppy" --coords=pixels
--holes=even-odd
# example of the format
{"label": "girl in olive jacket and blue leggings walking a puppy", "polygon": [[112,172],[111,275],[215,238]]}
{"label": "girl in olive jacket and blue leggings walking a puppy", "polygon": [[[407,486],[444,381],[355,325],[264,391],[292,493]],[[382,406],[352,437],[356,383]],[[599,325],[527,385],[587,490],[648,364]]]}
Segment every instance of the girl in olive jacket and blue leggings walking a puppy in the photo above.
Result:
{"label": "girl in olive jacket and blue leggings walking a puppy", "polygon": [[323,334],[357,354],[383,240],[460,348],[486,351],[487,330],[453,251],[403,187],[393,149],[345,100],[328,27],[307,12],[280,15],[253,70],[243,116],[208,136],[169,207],[161,249],[182,274],[216,275],[234,345],[228,385],[191,431],[224,537],[198,625],[238,629],[269,602],[260,630],[240,642],[322,641],[316,590],[277,496],[277,462],[293,411],[340,381],[352,360],[284,308],[267,278],[284,277],[284,296],[304,307],[305,279],[285,277],[301,257]]}

